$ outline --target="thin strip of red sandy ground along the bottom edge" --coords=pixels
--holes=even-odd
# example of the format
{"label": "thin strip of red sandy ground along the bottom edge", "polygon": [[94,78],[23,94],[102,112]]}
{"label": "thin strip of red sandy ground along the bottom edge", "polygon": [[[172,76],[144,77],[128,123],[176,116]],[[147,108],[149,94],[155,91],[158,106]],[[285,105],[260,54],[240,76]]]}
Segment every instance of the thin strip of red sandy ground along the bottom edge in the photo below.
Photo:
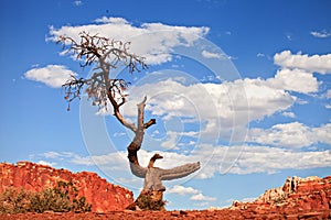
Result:
{"label": "thin strip of red sandy ground along the bottom edge", "polygon": [[114,219],[114,220],[136,220],[136,219],[331,219],[330,210],[320,210],[300,213],[275,213],[265,212],[257,213],[253,211],[241,210],[201,210],[201,211],[113,211],[107,213],[18,213],[18,215],[0,215],[2,220],[44,220],[44,219]]}

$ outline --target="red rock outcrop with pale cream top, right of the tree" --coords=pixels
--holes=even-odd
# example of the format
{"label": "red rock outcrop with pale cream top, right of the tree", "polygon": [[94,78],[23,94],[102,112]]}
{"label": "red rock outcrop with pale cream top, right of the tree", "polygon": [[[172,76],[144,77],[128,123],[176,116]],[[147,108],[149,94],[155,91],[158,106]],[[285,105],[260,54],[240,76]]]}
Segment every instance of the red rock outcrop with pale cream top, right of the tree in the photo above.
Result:
{"label": "red rock outcrop with pale cream top, right of the tree", "polygon": [[268,189],[253,202],[234,201],[232,210],[253,213],[330,215],[331,176],[288,177],[282,187]]}

